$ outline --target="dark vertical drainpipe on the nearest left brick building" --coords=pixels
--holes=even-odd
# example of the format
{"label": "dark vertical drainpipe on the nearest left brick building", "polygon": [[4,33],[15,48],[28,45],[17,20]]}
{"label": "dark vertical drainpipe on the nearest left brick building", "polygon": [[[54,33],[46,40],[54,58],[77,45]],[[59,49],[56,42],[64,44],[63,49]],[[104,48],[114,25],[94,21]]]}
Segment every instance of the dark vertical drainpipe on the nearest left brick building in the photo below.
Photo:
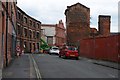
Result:
{"label": "dark vertical drainpipe on the nearest left brick building", "polygon": [[6,51],[5,51],[5,59],[6,59],[6,67],[8,66],[8,57],[7,57],[7,40],[8,39],[8,0],[6,0]]}

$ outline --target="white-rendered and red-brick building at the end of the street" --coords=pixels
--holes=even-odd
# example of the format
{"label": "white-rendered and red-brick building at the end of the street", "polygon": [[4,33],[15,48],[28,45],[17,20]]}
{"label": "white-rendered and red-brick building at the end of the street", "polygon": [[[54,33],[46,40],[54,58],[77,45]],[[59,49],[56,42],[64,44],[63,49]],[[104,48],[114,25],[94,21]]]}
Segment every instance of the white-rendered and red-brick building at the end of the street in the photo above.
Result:
{"label": "white-rendered and red-brick building at the end of the street", "polygon": [[61,46],[66,42],[66,29],[62,20],[58,24],[41,24],[41,30],[41,37],[49,46]]}

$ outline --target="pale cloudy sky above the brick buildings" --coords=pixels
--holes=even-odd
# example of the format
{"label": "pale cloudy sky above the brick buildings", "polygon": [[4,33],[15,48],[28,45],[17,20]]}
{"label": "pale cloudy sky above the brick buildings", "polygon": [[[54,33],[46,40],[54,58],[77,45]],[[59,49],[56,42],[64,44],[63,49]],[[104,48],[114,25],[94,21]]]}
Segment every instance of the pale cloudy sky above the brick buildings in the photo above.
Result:
{"label": "pale cloudy sky above the brick buildings", "polygon": [[98,29],[98,16],[111,16],[111,32],[118,32],[119,0],[17,0],[17,5],[42,24],[57,24],[59,20],[66,27],[65,10],[67,6],[81,3],[90,8],[90,27]]}

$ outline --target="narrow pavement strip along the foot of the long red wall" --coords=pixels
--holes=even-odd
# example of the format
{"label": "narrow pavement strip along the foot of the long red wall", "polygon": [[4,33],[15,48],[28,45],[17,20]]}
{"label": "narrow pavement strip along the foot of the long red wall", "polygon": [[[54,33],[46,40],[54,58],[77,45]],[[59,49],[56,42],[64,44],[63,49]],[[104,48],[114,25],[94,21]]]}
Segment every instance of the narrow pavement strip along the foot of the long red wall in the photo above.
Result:
{"label": "narrow pavement strip along the foot of the long red wall", "polygon": [[120,65],[116,62],[88,59],[88,58],[83,58],[83,57],[82,57],[82,59],[89,60],[93,64],[97,64],[97,65],[101,65],[101,66],[110,67],[110,68],[113,68],[113,69],[120,70]]}

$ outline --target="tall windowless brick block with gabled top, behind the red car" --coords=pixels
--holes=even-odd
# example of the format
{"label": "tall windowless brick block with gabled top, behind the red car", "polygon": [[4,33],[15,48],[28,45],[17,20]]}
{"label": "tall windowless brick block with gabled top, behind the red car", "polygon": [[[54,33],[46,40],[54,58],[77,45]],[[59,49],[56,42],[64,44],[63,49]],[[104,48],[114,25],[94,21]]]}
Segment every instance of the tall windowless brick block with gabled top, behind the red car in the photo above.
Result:
{"label": "tall windowless brick block with gabled top, behind the red car", "polygon": [[90,8],[76,3],[67,6],[65,10],[67,43],[76,45],[79,40],[86,38],[90,33]]}

